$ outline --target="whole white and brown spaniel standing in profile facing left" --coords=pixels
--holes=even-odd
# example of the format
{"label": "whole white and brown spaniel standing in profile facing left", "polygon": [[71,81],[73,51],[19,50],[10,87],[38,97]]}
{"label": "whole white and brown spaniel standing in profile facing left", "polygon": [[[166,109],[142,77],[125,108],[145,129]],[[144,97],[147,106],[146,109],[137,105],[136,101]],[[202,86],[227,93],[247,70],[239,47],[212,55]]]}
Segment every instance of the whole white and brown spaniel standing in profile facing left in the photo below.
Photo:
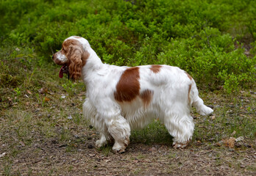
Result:
{"label": "whole white and brown spaniel standing in profile facing left", "polygon": [[213,112],[199,98],[193,78],[179,67],[103,64],[88,40],[77,36],[68,37],[52,58],[63,65],[60,77],[64,72],[72,79],[82,76],[86,84],[83,115],[101,133],[96,147],[114,139],[113,150],[124,152],[130,131],[145,127],[155,117],[174,136],[174,147],[185,147],[194,129],[191,106],[202,115]]}

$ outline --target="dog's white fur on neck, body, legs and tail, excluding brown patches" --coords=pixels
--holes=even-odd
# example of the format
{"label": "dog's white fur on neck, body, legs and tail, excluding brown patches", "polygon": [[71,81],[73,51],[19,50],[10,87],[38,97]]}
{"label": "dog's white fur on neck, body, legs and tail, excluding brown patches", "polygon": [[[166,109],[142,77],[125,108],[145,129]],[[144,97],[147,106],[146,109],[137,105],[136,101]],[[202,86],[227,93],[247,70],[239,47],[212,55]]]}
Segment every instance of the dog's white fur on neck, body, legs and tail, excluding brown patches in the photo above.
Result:
{"label": "dog's white fur on neck, body, legs and tail, excluding brown patches", "polygon": [[[88,40],[82,37],[68,39],[78,40],[90,54],[82,67],[82,79],[87,87],[83,115],[101,133],[101,138],[96,142],[97,147],[102,147],[107,141],[114,139],[113,150],[123,152],[129,143],[130,131],[143,128],[155,117],[159,118],[171,136],[174,136],[175,147],[185,147],[191,140],[194,129],[190,114],[191,105],[202,115],[213,112],[199,98],[193,78],[188,78],[188,74],[179,67],[168,65],[161,65],[158,73],[150,70],[151,65],[138,66],[140,91],[150,89],[153,92],[148,106],[143,105],[139,96],[132,102],[116,101],[116,85],[124,70],[129,67],[103,64],[90,48]],[[190,86],[191,91],[188,94]]]}

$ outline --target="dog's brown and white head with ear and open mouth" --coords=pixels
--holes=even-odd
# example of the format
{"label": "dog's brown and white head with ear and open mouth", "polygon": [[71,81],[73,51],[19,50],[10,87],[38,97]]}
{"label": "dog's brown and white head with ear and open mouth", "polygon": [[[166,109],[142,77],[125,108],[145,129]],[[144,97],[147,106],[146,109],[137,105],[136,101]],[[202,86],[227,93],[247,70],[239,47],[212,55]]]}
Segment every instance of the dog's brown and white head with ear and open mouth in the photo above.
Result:
{"label": "dog's brown and white head with ear and open mouth", "polygon": [[60,68],[60,78],[63,78],[63,73],[67,73],[72,80],[81,76],[82,67],[90,55],[86,45],[89,43],[82,37],[72,36],[64,40],[62,49],[52,56],[55,64],[63,65]]}

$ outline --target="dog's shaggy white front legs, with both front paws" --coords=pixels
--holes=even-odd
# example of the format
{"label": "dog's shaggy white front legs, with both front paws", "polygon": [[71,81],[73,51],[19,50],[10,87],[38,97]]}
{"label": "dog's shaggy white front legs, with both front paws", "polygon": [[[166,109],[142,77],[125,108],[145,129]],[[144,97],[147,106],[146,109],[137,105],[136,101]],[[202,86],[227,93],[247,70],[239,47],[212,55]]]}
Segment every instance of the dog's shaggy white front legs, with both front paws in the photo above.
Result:
{"label": "dog's shaggy white front legs, with both front paws", "polygon": [[[121,116],[120,107],[113,102],[112,99],[102,97],[94,97],[96,100],[93,104],[93,116],[90,117],[90,122],[94,127],[102,133],[101,139],[96,142],[96,147],[102,147],[106,140],[110,141],[112,138],[115,141],[113,151],[115,153],[124,153],[129,144],[129,136],[131,133],[129,123]],[[93,101],[92,101],[93,102]],[[84,107],[86,108],[86,103]]]}

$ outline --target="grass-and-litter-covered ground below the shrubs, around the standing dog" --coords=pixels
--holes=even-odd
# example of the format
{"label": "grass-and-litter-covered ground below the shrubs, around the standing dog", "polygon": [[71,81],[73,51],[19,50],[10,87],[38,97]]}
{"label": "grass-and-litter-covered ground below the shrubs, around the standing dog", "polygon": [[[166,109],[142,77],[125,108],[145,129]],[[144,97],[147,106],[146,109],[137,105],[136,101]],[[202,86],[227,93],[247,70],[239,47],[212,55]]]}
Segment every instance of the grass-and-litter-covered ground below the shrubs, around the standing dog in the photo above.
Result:
{"label": "grass-and-litter-covered ground below the shrubs, around the standing dog", "polygon": [[2,91],[2,175],[256,175],[255,91],[231,96],[199,90],[214,114],[192,109],[196,128],[185,149],[171,147],[156,119],[133,131],[127,151],[115,154],[112,146],[95,147],[99,133],[82,118],[84,85],[68,89],[71,83],[63,82]]}

